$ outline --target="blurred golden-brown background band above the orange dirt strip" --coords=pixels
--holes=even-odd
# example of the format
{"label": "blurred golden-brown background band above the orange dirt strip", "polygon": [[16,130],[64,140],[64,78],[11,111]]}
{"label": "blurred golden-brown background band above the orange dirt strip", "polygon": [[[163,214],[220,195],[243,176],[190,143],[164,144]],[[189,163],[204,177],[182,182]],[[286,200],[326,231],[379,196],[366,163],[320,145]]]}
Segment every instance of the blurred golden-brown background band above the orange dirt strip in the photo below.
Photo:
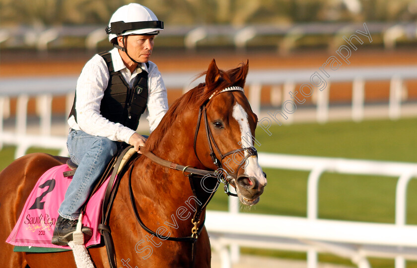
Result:
{"label": "blurred golden-brown background band above the orange dirt strip", "polygon": [[[0,48],[102,50],[110,14],[128,1],[0,0]],[[164,48],[333,51],[342,36],[366,22],[372,46],[393,49],[417,44],[416,0],[143,0],[165,21]],[[210,8],[207,8],[207,7]]]}

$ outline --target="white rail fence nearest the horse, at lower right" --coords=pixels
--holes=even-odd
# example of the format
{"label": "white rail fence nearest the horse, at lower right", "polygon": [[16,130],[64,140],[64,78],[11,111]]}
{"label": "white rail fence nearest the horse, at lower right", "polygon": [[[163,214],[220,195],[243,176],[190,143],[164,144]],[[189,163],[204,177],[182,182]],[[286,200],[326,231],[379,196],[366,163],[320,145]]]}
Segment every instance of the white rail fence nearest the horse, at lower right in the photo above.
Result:
{"label": "white rail fence nearest the horse, at lower right", "polygon": [[[239,258],[239,246],[307,252],[307,267],[317,267],[318,252],[348,258],[358,268],[370,268],[368,257],[417,260],[417,225],[406,224],[407,187],[417,178],[417,164],[259,154],[262,167],[310,171],[307,217],[238,213],[235,199],[229,212],[207,213],[206,227],[212,247],[220,253],[221,267],[230,268]],[[395,223],[371,223],[318,218],[318,184],[321,174],[361,174],[399,177]]]}

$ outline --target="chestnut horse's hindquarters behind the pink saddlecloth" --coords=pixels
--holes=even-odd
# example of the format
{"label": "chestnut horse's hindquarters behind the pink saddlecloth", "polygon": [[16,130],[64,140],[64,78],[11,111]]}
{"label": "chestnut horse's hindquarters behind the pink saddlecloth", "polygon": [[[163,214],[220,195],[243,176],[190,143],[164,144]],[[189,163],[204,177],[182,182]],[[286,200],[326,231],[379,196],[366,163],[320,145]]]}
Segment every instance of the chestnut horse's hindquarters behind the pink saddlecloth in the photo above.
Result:
{"label": "chestnut horse's hindquarters behind the pink saddlecloth", "polygon": [[[0,260],[2,267],[25,267],[24,254],[13,252],[6,243],[25,201],[38,178],[49,168],[62,164],[64,158],[30,154],[13,161],[0,173]],[[30,266],[30,265],[29,265]]]}

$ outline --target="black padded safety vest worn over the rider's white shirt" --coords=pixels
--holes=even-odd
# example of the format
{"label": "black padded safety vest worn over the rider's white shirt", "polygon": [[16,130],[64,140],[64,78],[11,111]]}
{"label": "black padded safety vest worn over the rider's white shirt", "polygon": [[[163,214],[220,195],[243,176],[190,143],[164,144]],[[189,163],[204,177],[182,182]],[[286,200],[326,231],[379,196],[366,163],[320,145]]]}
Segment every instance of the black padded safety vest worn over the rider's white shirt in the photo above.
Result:
{"label": "black padded safety vest worn over the rider's white shirt", "polygon": [[[109,83],[101,100],[100,113],[111,122],[121,123],[124,126],[136,130],[140,115],[146,108],[148,73],[142,70],[137,75],[133,83],[133,88],[130,88],[129,84],[123,79],[120,71],[114,71],[111,54],[104,52],[99,55],[106,61],[110,74]],[[149,68],[148,62],[146,62],[146,66]],[[75,112],[76,97],[75,95],[70,112],[70,116],[73,115],[75,121],[77,120]]]}

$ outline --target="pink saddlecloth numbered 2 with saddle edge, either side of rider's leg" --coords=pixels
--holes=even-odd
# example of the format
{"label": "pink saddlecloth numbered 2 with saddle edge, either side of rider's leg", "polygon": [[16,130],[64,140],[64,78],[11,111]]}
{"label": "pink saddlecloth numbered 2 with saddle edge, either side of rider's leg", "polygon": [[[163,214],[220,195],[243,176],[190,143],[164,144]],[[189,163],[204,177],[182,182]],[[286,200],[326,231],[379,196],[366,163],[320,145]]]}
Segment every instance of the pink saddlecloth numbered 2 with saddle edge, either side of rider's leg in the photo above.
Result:
{"label": "pink saddlecloth numbered 2 with saddle edge, either side of rider's leg", "polygon": [[[93,237],[85,244],[87,247],[100,244],[100,234],[105,239],[109,235],[106,234],[106,231],[110,232],[107,222],[119,183],[116,179],[117,174],[121,174],[123,167],[135,153],[132,146],[121,148],[118,157],[115,156],[109,163],[84,204],[82,224],[93,229]],[[52,167],[39,178],[6,240],[7,243],[15,246],[14,251],[57,252],[70,249],[68,246],[51,244],[51,238],[59,205],[64,200],[72,179],[68,176],[73,175],[75,170],[76,165],[68,161],[67,164]]]}

